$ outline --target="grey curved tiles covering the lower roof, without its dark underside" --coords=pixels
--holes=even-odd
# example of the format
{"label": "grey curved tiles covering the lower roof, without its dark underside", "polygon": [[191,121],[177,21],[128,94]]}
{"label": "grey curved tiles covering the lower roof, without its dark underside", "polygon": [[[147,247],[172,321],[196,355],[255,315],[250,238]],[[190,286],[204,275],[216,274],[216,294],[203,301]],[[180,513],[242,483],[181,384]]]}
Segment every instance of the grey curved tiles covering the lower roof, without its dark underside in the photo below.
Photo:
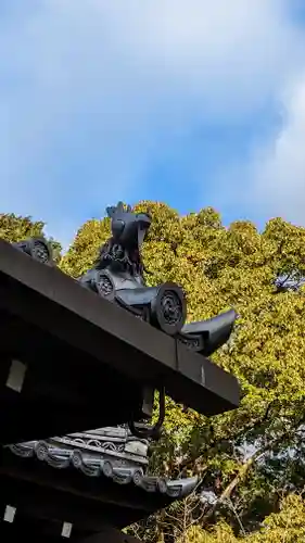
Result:
{"label": "grey curved tiles covering the lower roof, without its dark underside", "polygon": [[[194,490],[196,478],[167,480],[145,475],[148,444],[130,435],[125,451],[124,449],[119,451],[124,445],[119,441],[118,444],[113,441],[115,439],[113,431],[116,429],[109,430],[112,430],[112,435],[104,442],[100,441],[101,433],[98,433],[98,430],[45,441],[30,441],[9,445],[5,449],[16,456],[38,459],[54,469],[75,469],[87,477],[100,478],[101,484],[103,479],[107,479],[120,485],[130,484],[173,500],[182,498]],[[104,434],[102,437],[104,438]]]}

